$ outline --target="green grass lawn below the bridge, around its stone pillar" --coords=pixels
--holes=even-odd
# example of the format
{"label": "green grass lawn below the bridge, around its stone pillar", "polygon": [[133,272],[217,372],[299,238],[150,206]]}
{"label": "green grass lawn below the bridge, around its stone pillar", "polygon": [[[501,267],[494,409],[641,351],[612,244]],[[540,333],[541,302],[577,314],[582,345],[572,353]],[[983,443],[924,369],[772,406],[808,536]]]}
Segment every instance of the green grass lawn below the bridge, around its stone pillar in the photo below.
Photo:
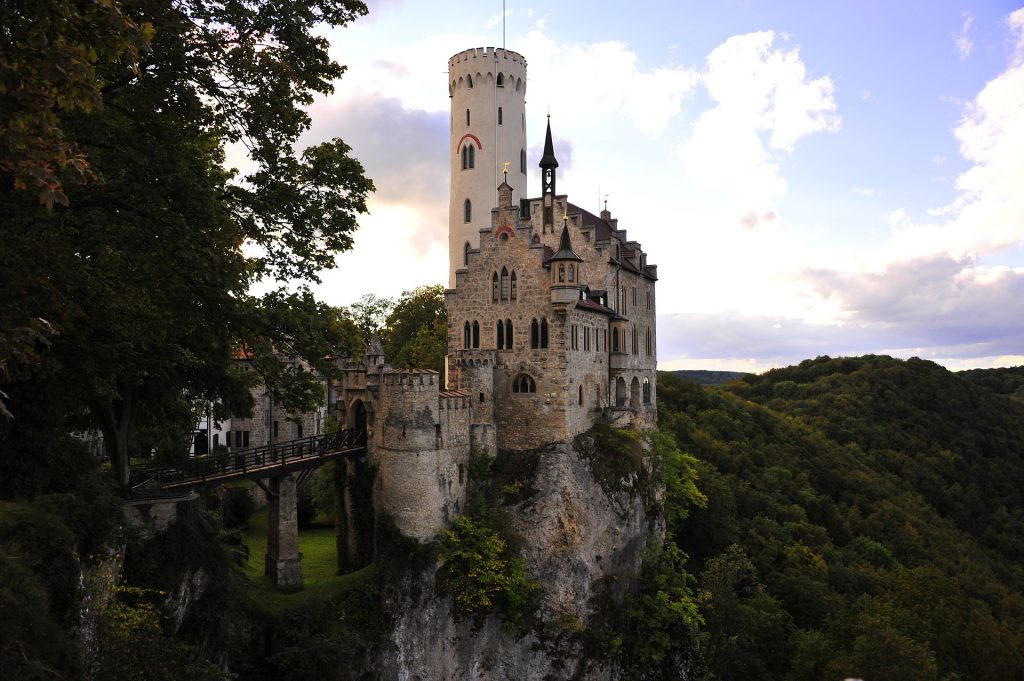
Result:
{"label": "green grass lawn below the bridge, around its stone pillar", "polygon": [[261,509],[249,519],[244,533],[249,547],[249,561],[243,567],[251,585],[250,597],[262,610],[281,614],[313,600],[324,600],[362,584],[371,574],[373,565],[350,574],[335,574],[338,568],[333,527],[314,527],[299,531],[299,553],[302,555],[304,588],[295,593],[283,594],[274,589],[269,578],[263,574],[266,555],[267,509]]}

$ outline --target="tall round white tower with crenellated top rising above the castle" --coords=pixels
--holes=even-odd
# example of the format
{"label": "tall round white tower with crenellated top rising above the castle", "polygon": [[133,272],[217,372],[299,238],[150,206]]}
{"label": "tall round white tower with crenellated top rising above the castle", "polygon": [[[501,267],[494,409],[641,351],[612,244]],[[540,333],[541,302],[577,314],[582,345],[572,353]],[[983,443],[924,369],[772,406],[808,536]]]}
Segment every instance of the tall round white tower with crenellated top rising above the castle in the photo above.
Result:
{"label": "tall round white tower with crenellated top rising above the castle", "polygon": [[502,180],[512,186],[514,202],[526,198],[526,59],[495,47],[459,52],[449,59],[449,286],[454,287],[467,252],[479,247],[480,229],[490,227]]}

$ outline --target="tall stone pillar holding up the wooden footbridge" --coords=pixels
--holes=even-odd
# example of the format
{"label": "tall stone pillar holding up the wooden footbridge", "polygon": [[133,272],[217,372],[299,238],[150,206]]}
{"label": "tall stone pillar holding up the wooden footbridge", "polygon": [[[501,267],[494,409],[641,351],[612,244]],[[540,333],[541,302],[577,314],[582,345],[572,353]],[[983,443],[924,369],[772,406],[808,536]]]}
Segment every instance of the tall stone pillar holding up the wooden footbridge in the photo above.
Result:
{"label": "tall stone pillar holding up the wooden footbridge", "polygon": [[263,571],[279,591],[302,588],[299,560],[298,484],[291,475],[271,477],[268,482],[269,517],[266,525],[266,559]]}

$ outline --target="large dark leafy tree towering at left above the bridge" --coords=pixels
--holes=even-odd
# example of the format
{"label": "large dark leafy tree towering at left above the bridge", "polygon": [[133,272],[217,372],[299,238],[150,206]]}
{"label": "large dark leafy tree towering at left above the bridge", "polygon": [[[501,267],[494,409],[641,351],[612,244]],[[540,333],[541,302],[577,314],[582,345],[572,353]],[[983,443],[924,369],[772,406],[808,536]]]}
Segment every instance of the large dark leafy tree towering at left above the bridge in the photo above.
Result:
{"label": "large dark leafy tree towering at left above the bridge", "polygon": [[[312,29],[345,24],[366,7],[97,2],[147,27],[148,49],[132,69],[116,47],[123,32],[100,24],[83,36],[101,105],[46,110],[96,178],[65,185],[67,206],[36,205],[13,188],[14,171],[0,167],[0,285],[8,292],[0,337],[36,318],[52,325],[50,388],[76,406],[53,428],[100,428],[127,485],[134,434],[179,412],[168,405],[219,399],[244,413],[248,382],[230,358],[243,342],[294,341],[291,349],[313,353],[312,364],[325,356],[323,342],[298,342],[325,318],[307,293],[248,291],[265,279],[317,282],[351,246],[373,183],[343,141],[301,153],[295,143],[309,125],[303,107],[344,71]],[[252,173],[224,169],[229,142],[248,150]],[[244,244],[256,248],[243,253]],[[0,434],[8,445],[0,449],[31,457],[17,426],[27,402],[9,387],[15,425]]]}

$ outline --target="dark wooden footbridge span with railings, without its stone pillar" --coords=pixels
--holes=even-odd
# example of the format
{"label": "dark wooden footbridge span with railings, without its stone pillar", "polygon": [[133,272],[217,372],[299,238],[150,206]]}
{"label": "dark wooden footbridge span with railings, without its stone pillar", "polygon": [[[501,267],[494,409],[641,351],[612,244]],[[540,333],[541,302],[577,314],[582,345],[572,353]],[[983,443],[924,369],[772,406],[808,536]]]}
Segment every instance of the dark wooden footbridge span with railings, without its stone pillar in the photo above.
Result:
{"label": "dark wooden footbridge span with railings, without its stone pillar", "polygon": [[366,443],[365,431],[339,430],[248,450],[193,457],[173,465],[151,466],[138,471],[138,479],[161,486],[202,483],[208,479],[244,476],[286,464],[324,459],[341,451],[364,448]]}

